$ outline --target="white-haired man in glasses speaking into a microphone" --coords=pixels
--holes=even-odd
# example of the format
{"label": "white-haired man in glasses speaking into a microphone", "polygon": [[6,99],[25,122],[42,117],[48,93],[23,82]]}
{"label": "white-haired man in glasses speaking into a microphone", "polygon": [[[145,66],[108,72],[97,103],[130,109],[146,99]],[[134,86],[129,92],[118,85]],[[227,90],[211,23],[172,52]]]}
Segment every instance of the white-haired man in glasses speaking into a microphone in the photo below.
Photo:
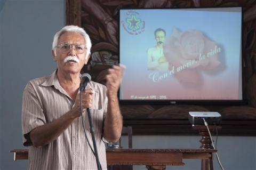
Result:
{"label": "white-haired man in glasses speaking into a microphone", "polygon": [[25,87],[22,134],[23,145],[30,146],[29,169],[97,169],[93,148],[90,149],[92,139],[86,108],[91,110],[100,164],[107,169],[103,141],[117,141],[122,131],[117,99],[122,71],[113,66],[108,70],[106,86],[90,82],[80,92],[80,71],[90,58],[90,48],[91,41],[84,29],[63,27],[52,44],[58,69],[49,77],[29,81]]}

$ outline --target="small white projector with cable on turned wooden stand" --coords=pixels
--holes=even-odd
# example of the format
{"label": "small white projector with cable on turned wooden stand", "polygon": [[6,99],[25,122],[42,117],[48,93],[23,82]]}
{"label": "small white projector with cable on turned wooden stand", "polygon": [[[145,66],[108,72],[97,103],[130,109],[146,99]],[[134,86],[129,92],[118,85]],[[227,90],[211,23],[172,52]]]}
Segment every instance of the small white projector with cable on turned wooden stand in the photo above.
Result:
{"label": "small white projector with cable on turned wooden stand", "polygon": [[208,125],[219,125],[221,123],[219,112],[211,111],[189,111],[188,119],[192,125],[204,125],[203,119]]}

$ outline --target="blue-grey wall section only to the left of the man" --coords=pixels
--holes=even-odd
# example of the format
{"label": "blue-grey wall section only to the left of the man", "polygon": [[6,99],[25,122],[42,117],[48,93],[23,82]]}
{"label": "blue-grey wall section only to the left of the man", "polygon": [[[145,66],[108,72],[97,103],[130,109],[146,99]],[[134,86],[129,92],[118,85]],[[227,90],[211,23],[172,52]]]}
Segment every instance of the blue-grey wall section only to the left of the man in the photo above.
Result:
{"label": "blue-grey wall section only to the left of the man", "polygon": [[[3,3],[0,3],[2,5]],[[24,148],[21,135],[23,88],[55,69],[51,43],[65,25],[65,0],[7,0],[0,11],[0,169],[26,169],[11,149]]]}

